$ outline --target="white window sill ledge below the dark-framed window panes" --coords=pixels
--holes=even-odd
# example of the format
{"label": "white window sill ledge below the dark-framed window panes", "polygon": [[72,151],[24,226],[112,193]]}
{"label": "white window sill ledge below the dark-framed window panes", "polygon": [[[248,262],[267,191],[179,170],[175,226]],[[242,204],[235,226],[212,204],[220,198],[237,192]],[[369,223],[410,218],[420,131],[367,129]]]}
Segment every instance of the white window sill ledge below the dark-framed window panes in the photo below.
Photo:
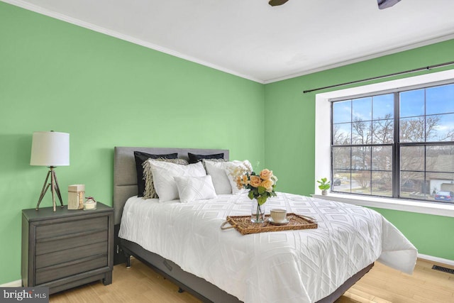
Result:
{"label": "white window sill ledge below the dark-framed window panes", "polygon": [[377,207],[380,209],[392,209],[397,211],[410,211],[419,214],[433,214],[436,216],[454,217],[453,204],[429,203],[422,201],[416,202],[404,199],[366,197],[352,194],[335,193],[329,193],[326,196],[323,196],[321,194],[312,194],[312,197],[360,206]]}

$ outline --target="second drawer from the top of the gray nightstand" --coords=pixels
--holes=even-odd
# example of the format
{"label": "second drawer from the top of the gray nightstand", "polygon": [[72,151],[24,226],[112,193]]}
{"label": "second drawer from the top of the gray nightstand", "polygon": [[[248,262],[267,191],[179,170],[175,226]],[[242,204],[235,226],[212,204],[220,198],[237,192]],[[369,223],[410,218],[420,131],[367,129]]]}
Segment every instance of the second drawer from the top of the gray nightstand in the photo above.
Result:
{"label": "second drawer from the top of the gray nightstand", "polygon": [[57,252],[74,248],[77,250],[79,246],[87,244],[99,243],[107,241],[109,233],[107,228],[103,231],[88,231],[84,233],[75,233],[58,238],[43,238],[36,241],[36,255],[45,253]]}

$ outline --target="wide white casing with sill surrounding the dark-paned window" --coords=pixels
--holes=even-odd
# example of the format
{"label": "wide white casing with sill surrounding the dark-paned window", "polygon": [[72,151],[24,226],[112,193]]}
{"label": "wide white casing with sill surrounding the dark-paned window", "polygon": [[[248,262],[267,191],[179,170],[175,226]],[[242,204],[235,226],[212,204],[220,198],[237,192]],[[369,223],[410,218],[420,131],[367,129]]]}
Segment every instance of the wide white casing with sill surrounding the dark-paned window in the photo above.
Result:
{"label": "wide white casing with sill surrounding the dark-paned window", "polygon": [[[444,70],[442,72],[431,72],[425,75],[417,75],[414,77],[406,77],[387,82],[367,84],[360,87],[351,87],[348,89],[316,94],[314,181],[331,175],[331,129],[326,127],[327,125],[331,126],[331,101],[349,99],[351,97],[362,97],[370,94],[385,94],[405,89],[410,90],[421,87],[421,85],[428,87],[431,86],[431,84],[448,84],[453,81],[454,70]],[[314,182],[313,195],[314,197],[322,197],[316,182]],[[331,199],[339,202],[372,206],[382,209],[454,217],[453,205],[425,202],[422,200],[404,200],[348,193],[330,193],[328,196],[323,196],[323,199]]]}

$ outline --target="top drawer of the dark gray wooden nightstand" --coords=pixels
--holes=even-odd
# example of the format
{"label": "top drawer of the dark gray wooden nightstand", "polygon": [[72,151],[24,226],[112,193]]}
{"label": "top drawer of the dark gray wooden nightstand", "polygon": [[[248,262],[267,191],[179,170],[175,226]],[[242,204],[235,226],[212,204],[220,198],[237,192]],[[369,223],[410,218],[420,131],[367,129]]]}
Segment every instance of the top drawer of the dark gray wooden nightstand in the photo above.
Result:
{"label": "top drawer of the dark gray wooden nightstand", "polygon": [[36,226],[36,240],[107,228],[106,216]]}

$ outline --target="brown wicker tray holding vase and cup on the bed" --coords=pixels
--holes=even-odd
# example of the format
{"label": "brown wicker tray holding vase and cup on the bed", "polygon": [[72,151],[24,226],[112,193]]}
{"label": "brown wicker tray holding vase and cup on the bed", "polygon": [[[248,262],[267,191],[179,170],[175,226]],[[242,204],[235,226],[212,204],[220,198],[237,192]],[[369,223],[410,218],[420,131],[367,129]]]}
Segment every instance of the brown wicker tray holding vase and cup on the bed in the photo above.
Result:
{"label": "brown wicker tray holding vase and cup on the bed", "polygon": [[[319,227],[316,220],[307,216],[289,213],[287,214],[288,224],[274,225],[268,221],[270,215],[265,215],[265,223],[256,224],[250,221],[250,216],[227,216],[221,229],[235,228],[242,235],[249,233],[265,233],[267,231],[290,231],[297,229],[313,229]],[[226,226],[230,224],[230,226]]]}

